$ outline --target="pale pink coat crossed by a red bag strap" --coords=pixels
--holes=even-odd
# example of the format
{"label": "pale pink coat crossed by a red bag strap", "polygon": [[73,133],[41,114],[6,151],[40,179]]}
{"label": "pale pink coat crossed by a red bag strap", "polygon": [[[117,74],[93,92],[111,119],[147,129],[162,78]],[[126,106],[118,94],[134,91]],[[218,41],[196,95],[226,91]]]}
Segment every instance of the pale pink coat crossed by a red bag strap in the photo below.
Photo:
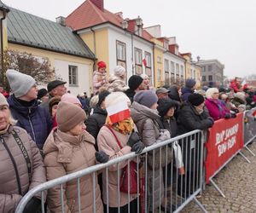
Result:
{"label": "pale pink coat crossed by a red bag strap", "polygon": [[[113,133],[118,138],[121,146],[123,147],[120,149],[117,141],[115,140],[115,137]],[[119,156],[123,156],[127,153],[131,153],[131,147],[127,146],[126,143],[129,139],[129,135],[124,135],[116,130],[113,130],[113,133],[108,130],[108,127],[103,126],[102,129],[99,132],[99,135],[97,137],[98,147],[100,151],[103,151],[109,155],[110,159],[117,158]],[[119,171],[121,174],[121,169],[125,167],[127,164],[127,161],[122,161],[119,163]],[[102,198],[103,203],[107,204],[107,185],[106,185],[106,170],[103,170],[102,173]],[[128,194],[119,192],[119,202],[118,203],[118,164],[113,164],[112,166],[108,167],[108,204],[109,207],[118,207],[118,204],[120,206],[124,206],[125,204],[128,204]],[[137,194],[130,194],[130,201],[137,198]]]}

